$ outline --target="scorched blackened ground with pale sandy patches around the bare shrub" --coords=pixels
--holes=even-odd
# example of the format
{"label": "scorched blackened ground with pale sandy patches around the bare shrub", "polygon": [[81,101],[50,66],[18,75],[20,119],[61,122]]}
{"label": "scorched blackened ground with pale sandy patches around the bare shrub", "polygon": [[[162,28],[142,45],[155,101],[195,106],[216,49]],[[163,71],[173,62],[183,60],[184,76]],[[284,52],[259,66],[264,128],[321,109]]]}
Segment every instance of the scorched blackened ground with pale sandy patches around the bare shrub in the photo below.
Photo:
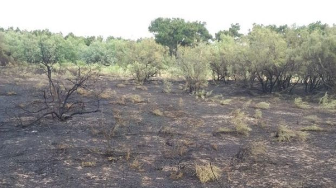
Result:
{"label": "scorched blackened ground with pale sandy patches around the bare shrub", "polygon": [[[336,188],[336,125],[325,123],[336,117],[317,103],[301,110],[294,96],[251,95],[234,84],[210,81],[206,90],[213,90],[212,95],[232,99],[223,106],[184,93],[182,81],[173,81],[171,93],[163,93],[161,80],[140,90],[132,81],[103,77],[103,86],[116,93],[101,99],[101,113],[18,127],[5,110],[19,112],[16,104],[40,99],[35,86],[41,79],[44,75],[0,76],[1,188]],[[116,87],[120,83],[125,87]],[[144,101],[118,101],[131,94]],[[216,134],[218,128],[233,128],[232,112],[250,99],[245,110],[249,135]],[[263,126],[253,117],[253,106],[261,101],[270,104],[261,110]],[[280,122],[299,130],[311,125],[301,118],[307,115],[317,115],[323,131],[309,132],[307,141],[277,141]],[[266,153],[235,160],[240,147],[252,141],[263,142]],[[221,176],[202,184],[195,165],[210,162],[222,170]]]}

